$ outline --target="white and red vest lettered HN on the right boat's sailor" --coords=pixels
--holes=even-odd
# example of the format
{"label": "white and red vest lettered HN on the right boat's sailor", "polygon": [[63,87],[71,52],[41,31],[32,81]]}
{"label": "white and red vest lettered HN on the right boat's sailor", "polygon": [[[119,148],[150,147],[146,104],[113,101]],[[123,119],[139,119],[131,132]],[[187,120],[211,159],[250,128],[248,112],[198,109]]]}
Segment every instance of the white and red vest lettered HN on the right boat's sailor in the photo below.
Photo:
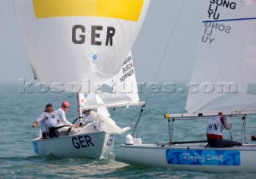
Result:
{"label": "white and red vest lettered HN on the right boat's sailor", "polygon": [[224,129],[224,122],[222,116],[212,117],[207,126],[207,139],[222,139],[222,130]]}

